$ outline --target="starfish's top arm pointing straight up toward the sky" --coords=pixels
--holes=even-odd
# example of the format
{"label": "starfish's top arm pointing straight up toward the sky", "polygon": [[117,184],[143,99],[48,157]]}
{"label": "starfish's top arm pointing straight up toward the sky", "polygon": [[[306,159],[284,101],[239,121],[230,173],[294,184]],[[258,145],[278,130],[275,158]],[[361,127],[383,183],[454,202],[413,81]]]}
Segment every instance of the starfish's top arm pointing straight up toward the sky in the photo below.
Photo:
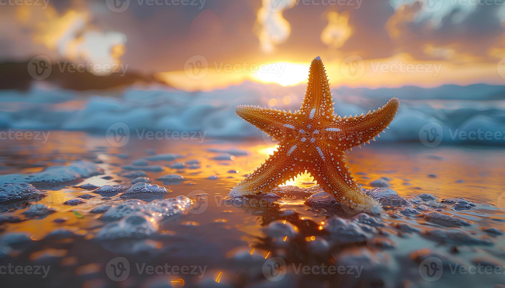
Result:
{"label": "starfish's top arm pointing straight up toward the sky", "polygon": [[309,82],[300,113],[312,119],[315,115],[331,116],[333,114],[333,99],[324,64],[316,57],[309,71]]}

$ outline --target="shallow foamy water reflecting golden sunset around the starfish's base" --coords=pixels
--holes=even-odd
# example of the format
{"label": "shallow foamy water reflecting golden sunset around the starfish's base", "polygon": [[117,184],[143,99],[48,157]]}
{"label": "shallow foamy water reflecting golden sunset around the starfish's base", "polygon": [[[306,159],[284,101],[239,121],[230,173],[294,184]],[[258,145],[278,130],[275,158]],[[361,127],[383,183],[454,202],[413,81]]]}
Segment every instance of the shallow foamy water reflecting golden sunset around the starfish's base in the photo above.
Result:
{"label": "shallow foamy water reflecting golden sunset around the starfish's base", "polygon": [[[84,160],[95,168],[89,173],[94,176],[81,179],[74,171],[76,181],[31,183],[47,196],[0,204],[0,266],[50,267],[46,277],[2,275],[6,286],[505,284],[505,275],[496,270],[458,270],[505,265],[503,235],[496,234],[505,222],[501,148],[428,148],[379,139],[354,149],[348,155],[350,170],[364,189],[373,188],[371,182],[387,184],[406,199],[383,205],[384,212],[375,217],[318,202],[328,200],[324,197],[306,204],[319,191],[308,175],[273,194],[227,197],[275,149],[261,140],[131,139],[113,147],[105,137],[81,132],[52,132],[48,139],[45,144],[0,142],[0,174],[33,175]],[[144,174],[128,175],[139,170]],[[156,180],[167,175],[183,179]],[[134,180],[168,192],[129,193]],[[95,187],[77,188],[85,184]],[[459,197],[471,202],[444,200]],[[440,265],[430,266],[433,259]],[[155,266],[153,273],[149,266]],[[327,267],[341,270],[332,273]],[[120,273],[124,269],[128,275]]]}

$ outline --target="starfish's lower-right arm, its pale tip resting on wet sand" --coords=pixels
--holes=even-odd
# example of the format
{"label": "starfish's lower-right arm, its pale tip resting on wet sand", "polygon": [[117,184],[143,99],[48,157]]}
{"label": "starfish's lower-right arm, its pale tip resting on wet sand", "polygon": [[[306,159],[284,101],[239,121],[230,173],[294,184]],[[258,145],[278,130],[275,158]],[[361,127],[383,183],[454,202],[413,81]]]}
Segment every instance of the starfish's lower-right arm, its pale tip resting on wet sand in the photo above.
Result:
{"label": "starfish's lower-right arm, its pale tip resting on wet sand", "polygon": [[310,170],[314,180],[324,191],[332,194],[339,203],[352,209],[375,214],[382,211],[380,203],[366,195],[354,181],[351,172],[346,167],[343,152],[333,151],[329,148],[318,149],[321,155],[317,161],[319,164],[312,167],[315,170]]}

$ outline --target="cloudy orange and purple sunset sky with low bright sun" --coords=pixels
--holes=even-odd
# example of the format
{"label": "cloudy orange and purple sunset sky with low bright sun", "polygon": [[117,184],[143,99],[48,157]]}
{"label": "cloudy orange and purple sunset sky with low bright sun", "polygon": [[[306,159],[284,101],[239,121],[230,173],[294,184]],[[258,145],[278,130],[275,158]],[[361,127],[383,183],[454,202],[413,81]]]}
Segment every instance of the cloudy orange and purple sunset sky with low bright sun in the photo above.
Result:
{"label": "cloudy orange and purple sunset sky with low bright sun", "polygon": [[299,84],[318,55],[334,87],[505,83],[505,0],[1,0],[0,18],[0,62],[123,65],[187,91]]}

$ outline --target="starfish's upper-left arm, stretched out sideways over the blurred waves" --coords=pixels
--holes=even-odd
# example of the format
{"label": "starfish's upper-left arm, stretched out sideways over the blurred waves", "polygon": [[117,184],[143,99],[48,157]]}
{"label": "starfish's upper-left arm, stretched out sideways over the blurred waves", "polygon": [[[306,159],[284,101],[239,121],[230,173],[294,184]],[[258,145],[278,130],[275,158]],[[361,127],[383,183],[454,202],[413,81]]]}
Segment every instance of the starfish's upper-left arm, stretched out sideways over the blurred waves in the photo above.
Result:
{"label": "starfish's upper-left arm, stretched out sideways over the blurred waves", "polygon": [[235,107],[235,113],[279,141],[285,140],[296,129],[296,116],[291,112],[240,105]]}

